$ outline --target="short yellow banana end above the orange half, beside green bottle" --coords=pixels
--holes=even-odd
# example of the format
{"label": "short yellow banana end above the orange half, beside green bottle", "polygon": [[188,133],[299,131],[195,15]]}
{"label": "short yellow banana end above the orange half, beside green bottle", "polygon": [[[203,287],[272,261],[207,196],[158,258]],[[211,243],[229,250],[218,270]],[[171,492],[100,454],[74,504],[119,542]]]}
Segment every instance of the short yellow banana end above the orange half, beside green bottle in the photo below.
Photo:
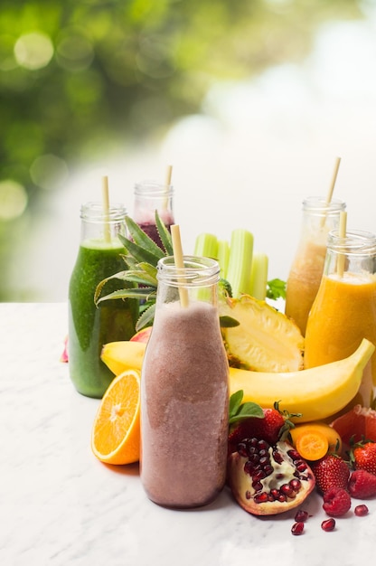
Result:
{"label": "short yellow banana end above the orange half, beside green bottle", "polygon": [[108,342],[102,348],[100,359],[115,375],[127,370],[141,371],[146,344],[144,342]]}

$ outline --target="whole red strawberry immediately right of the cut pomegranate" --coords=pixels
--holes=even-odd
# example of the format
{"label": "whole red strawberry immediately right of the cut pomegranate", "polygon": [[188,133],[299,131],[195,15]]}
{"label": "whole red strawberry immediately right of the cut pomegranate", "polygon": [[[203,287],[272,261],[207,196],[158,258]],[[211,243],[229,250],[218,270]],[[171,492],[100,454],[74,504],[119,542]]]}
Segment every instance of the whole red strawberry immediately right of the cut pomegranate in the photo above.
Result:
{"label": "whole red strawberry immediately right of the cut pomegranate", "polygon": [[316,487],[322,494],[332,487],[347,489],[350,468],[340,456],[327,454],[311,464],[311,468],[315,475]]}

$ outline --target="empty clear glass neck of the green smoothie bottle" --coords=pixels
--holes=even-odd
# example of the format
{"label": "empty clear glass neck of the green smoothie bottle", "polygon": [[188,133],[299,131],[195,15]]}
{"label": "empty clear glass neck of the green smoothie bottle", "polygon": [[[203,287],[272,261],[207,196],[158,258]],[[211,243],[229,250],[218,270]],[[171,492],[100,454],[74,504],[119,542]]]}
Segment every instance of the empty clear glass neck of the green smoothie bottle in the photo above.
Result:
{"label": "empty clear glass neck of the green smoothie bottle", "polygon": [[123,204],[112,204],[108,211],[101,203],[86,203],[81,206],[80,241],[96,242],[97,245],[120,246],[118,235],[127,236],[127,209]]}

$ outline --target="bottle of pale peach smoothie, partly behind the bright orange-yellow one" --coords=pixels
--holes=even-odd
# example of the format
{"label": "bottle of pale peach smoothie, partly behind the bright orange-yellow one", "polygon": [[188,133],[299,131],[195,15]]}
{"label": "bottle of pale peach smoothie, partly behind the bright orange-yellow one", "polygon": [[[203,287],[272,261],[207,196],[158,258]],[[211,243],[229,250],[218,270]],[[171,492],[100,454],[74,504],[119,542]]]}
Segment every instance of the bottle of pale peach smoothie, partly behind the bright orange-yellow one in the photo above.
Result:
{"label": "bottle of pale peach smoothie, partly behind the bright orange-yellow one", "polygon": [[327,203],[324,198],[310,196],[303,201],[300,239],[287,278],[285,306],[285,313],[295,320],[302,335],[323,275],[327,235],[338,228],[345,208],[339,199]]}

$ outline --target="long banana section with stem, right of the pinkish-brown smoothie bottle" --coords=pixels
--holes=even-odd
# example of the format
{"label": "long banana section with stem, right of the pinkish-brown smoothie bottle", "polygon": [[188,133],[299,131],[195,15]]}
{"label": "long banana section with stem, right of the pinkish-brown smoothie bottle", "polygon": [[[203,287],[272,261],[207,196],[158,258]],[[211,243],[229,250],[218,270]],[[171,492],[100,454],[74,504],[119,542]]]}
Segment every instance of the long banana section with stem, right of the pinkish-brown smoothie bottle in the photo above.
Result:
{"label": "long banana section with stem, right of the pinkish-brown smoothie bottle", "polygon": [[282,373],[230,368],[230,394],[242,390],[243,402],[254,401],[264,409],[280,401],[281,409],[302,413],[296,422],[322,420],[353,400],[374,350],[364,338],[349,357],[315,368]]}

